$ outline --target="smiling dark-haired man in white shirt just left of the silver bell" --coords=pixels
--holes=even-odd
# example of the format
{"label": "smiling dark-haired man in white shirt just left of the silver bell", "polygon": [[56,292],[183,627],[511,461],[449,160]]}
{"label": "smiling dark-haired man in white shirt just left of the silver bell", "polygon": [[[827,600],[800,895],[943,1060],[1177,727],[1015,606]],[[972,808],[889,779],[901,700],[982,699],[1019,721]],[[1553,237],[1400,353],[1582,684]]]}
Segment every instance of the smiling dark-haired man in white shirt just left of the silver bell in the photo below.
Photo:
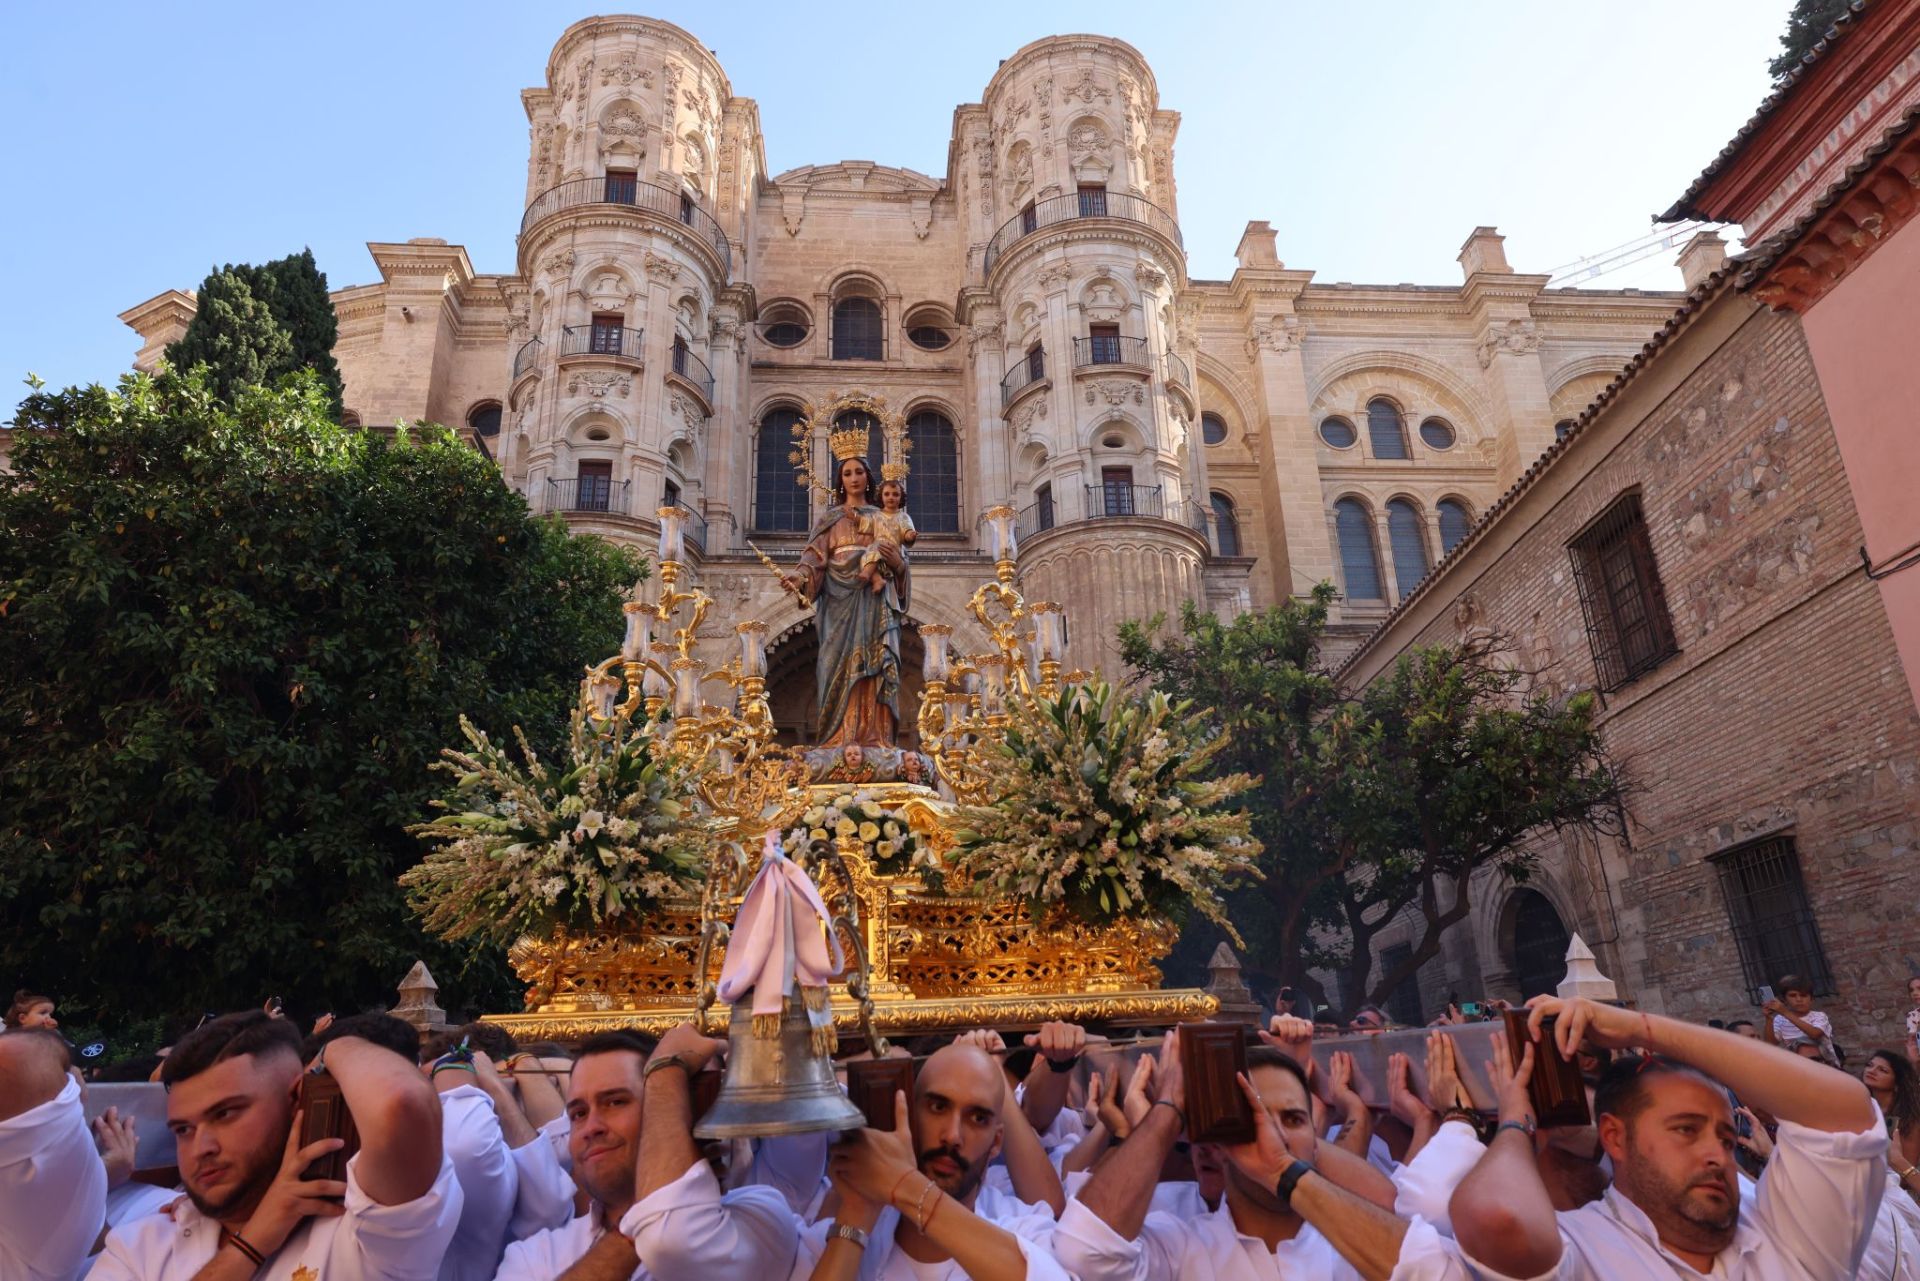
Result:
{"label": "smiling dark-haired man in white shirt just left of the silver bell", "polygon": [[[720,1193],[693,1143],[689,1081],[726,1047],[693,1024],[659,1047],[586,1039],[566,1087],[574,1181],[591,1198],[564,1227],[507,1246],[497,1281],[780,1281],[799,1225],[768,1187]],[[643,1124],[645,1122],[645,1124]]]}

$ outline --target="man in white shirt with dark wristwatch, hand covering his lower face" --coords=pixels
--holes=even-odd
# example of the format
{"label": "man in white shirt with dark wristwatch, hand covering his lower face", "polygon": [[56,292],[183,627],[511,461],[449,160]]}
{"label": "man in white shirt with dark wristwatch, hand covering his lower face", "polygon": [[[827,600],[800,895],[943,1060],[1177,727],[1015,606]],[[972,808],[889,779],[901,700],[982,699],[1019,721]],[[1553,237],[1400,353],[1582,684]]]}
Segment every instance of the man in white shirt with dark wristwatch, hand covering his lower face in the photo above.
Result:
{"label": "man in white shirt with dark wristwatch, hand covering his lower face", "polygon": [[1300,1064],[1273,1047],[1250,1049],[1246,1062],[1240,1087],[1258,1129],[1252,1143],[1221,1147],[1229,1166],[1221,1208],[1187,1220],[1148,1212],[1160,1166],[1185,1127],[1179,1033],[1169,1031],[1152,1110],[1060,1216],[1054,1256],[1062,1268],[1081,1281],[1467,1275],[1430,1225],[1398,1218],[1321,1170],[1346,1156],[1380,1177],[1357,1156],[1315,1143]]}

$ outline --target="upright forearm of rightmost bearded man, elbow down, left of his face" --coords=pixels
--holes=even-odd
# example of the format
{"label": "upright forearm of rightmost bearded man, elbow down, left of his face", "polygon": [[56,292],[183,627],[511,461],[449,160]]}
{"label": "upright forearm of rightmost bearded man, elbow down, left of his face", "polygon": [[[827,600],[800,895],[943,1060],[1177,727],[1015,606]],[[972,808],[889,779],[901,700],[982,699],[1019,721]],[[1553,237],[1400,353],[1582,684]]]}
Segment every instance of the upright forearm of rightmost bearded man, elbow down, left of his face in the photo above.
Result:
{"label": "upright forearm of rightmost bearded man, elbow down, left of his face", "polygon": [[1526,1083],[1534,1077],[1534,1047],[1509,1066],[1507,1037],[1494,1033],[1494,1058],[1486,1076],[1500,1099],[1500,1129],[1448,1202],[1453,1239],[1476,1264],[1507,1277],[1538,1277],[1561,1258],[1559,1218],[1540,1181],[1534,1160],[1534,1104]]}

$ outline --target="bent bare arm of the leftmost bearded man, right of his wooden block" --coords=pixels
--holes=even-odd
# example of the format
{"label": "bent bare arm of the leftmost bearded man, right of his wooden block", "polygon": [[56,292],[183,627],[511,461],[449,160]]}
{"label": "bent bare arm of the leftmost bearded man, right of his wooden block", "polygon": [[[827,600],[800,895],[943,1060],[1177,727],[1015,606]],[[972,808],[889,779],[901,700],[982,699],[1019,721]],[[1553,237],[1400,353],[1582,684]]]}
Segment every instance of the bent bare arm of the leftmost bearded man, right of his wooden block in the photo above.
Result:
{"label": "bent bare arm of the leftmost bearded man, right of his wooden block", "polygon": [[445,1158],[434,1087],[405,1058],[359,1037],[328,1041],[323,1060],[359,1129],[361,1191],[382,1206],[424,1196]]}

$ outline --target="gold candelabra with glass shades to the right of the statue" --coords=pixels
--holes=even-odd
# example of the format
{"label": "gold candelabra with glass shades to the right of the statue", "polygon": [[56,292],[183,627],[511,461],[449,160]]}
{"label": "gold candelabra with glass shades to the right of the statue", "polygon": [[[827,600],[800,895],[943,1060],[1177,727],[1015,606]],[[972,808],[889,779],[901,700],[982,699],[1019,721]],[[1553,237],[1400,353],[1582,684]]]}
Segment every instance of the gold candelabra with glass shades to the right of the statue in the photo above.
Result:
{"label": "gold candelabra with glass shades to the right of the statue", "polygon": [[[925,697],[920,701],[920,745],[958,801],[987,801],[985,755],[1012,722],[1008,699],[1056,699],[1062,689],[1066,613],[1054,601],[1029,601],[1020,590],[1014,509],[987,509],[993,578],[979,584],[968,613],[987,634],[989,649],[954,659],[952,628],[924,624]],[[1087,672],[1068,672],[1068,686]]]}

